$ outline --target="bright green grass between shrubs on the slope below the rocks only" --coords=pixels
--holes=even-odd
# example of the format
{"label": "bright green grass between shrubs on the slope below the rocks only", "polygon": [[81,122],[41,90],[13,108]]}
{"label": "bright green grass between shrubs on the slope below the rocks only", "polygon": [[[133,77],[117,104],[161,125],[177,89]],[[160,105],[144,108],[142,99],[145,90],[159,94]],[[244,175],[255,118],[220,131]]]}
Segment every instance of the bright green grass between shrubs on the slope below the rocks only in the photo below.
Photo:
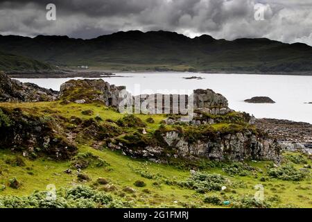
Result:
{"label": "bright green grass between shrubs on the slope below the rocks only", "polygon": [[[123,197],[125,199],[130,198],[134,201],[136,207],[144,207],[149,205],[151,207],[159,206],[180,206],[182,203],[188,203],[191,205],[198,205],[198,207],[216,207],[202,203],[202,194],[197,194],[196,191],[191,189],[182,189],[175,185],[166,185],[162,180],[142,178],[139,173],[134,169],[140,169],[141,171],[148,171],[152,175],[161,175],[162,178],[168,180],[185,180],[190,176],[188,170],[177,169],[174,166],[166,164],[156,164],[154,162],[148,162],[146,160],[134,160],[130,157],[124,156],[119,152],[110,151],[105,149],[98,151],[89,146],[80,146],[79,152],[91,152],[94,155],[98,155],[103,160],[110,164],[110,167],[88,167],[83,170],[83,173],[87,174],[92,181],[90,182],[78,182],[76,173],[67,174],[64,173],[66,169],[70,167],[69,162],[54,162],[40,158],[38,160],[24,159],[26,166],[24,167],[8,167],[5,160],[8,157],[14,155],[10,151],[0,151],[0,169],[2,175],[0,177],[0,184],[8,183],[10,178],[17,178],[22,183],[19,189],[12,189],[7,187],[4,191],[0,191],[1,196],[6,195],[27,195],[31,194],[35,189],[45,190],[46,185],[54,184],[57,189],[60,187],[71,187],[77,184],[92,186],[92,183],[97,178],[105,178],[110,184],[117,187],[116,191],[112,194],[116,197],[123,192],[124,187],[132,187],[137,190],[135,196],[128,195]],[[311,161],[310,161],[311,162]],[[254,194],[254,186],[262,184],[265,187],[265,197],[270,198],[276,194],[281,199],[280,203],[277,203],[277,207],[284,205],[294,205],[296,207],[312,207],[312,194],[311,194],[311,180],[304,180],[301,182],[282,181],[270,178],[266,182],[260,182],[259,178],[265,174],[266,165],[270,162],[249,162],[252,167],[257,167],[263,171],[263,173],[257,173],[258,178],[254,176],[227,176],[222,169],[216,167],[211,169],[205,169],[208,173],[220,173],[227,176],[232,182],[243,182],[245,188],[235,188],[237,194],[231,194],[227,196],[233,196],[239,198],[243,194]],[[31,167],[31,170],[27,169]],[[298,166],[299,167],[299,166]],[[28,172],[32,171],[34,175],[29,175]],[[133,183],[136,180],[143,180],[146,183],[146,187],[135,187]],[[162,182],[160,187],[153,186],[153,182]],[[101,189],[101,185],[98,186]],[[145,194],[144,189],[148,189],[150,194]],[[220,191],[211,191],[208,195],[220,196]],[[228,198],[231,200],[231,198]],[[177,201],[177,203],[175,203]]]}

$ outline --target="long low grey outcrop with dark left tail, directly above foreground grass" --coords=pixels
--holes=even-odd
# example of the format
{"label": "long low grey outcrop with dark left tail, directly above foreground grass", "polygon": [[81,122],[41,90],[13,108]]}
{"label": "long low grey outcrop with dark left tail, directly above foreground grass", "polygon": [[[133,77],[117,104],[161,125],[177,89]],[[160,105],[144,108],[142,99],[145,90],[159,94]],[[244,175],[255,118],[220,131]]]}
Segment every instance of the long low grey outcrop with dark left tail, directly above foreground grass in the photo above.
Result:
{"label": "long low grey outcrop with dark left tail, directly above foreground grass", "polygon": [[161,135],[164,143],[144,148],[130,148],[127,144],[110,144],[111,148],[121,149],[125,154],[135,157],[148,157],[157,162],[166,162],[168,158],[187,158],[196,160],[274,160],[279,161],[279,144],[268,137],[254,135],[246,130],[241,133],[217,134],[205,139],[190,141],[176,131]]}

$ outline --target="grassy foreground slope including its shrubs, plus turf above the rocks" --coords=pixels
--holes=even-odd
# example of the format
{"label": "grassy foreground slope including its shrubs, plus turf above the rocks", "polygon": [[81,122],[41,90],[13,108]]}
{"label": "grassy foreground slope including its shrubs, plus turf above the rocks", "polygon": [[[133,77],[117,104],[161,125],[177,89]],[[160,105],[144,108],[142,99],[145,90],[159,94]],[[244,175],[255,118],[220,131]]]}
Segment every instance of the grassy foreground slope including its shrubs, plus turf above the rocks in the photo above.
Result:
{"label": "grassy foreground slope including its shrubs, plus turf above the rocks", "polygon": [[[82,120],[101,117],[101,121],[113,121],[113,125],[124,117],[101,104],[0,103],[0,108],[19,108],[26,114],[41,117],[57,115]],[[92,112],[83,114],[85,110]],[[165,118],[164,115],[153,115],[155,122],[151,123],[147,121],[148,115],[137,114],[136,117],[146,123],[148,132],[159,128]],[[225,127],[227,123],[222,125]],[[218,129],[220,123],[213,127]],[[125,130],[129,133],[138,129]],[[302,173],[302,169],[311,171],[312,162],[301,153],[284,153],[284,161],[279,167],[274,167],[272,162],[253,161],[157,164],[111,151],[83,135],[78,137],[78,155],[66,161],[55,161],[46,156],[23,157],[19,152],[12,153],[1,147],[0,207],[1,203],[4,207],[312,207],[311,175]],[[87,178],[79,180],[73,166],[85,161],[88,164],[81,173]],[[72,172],[64,173],[67,169]],[[190,169],[195,169],[196,173],[192,175]],[[12,186],[15,178],[19,182],[17,187]],[[264,187],[263,201],[253,198],[258,191],[254,186],[259,184]],[[41,193],[32,194],[35,190],[45,191],[47,185],[55,185],[59,191],[58,201],[62,200],[62,203],[49,202],[39,195]],[[79,185],[83,187],[75,188]],[[227,189],[221,191],[223,186]],[[76,189],[80,192],[82,189],[84,194],[94,192],[94,195],[76,198]],[[31,196],[25,197],[28,195]],[[101,196],[101,200],[94,196]],[[40,198],[39,203],[37,198]],[[75,202],[82,198],[89,202]],[[229,201],[229,205],[224,201]]]}

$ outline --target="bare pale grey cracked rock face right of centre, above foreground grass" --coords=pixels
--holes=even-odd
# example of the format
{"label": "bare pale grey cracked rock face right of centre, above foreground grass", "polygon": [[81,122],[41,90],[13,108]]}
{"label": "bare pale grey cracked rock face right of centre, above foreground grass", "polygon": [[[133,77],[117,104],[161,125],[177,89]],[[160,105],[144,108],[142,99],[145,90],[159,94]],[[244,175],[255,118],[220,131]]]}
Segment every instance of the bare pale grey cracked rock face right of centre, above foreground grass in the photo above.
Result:
{"label": "bare pale grey cracked rock face right of centre, above foreground grass", "polygon": [[169,146],[177,148],[178,155],[207,157],[212,160],[277,160],[279,145],[272,139],[261,138],[251,132],[220,135],[210,142],[200,140],[190,144],[177,134],[166,133]]}

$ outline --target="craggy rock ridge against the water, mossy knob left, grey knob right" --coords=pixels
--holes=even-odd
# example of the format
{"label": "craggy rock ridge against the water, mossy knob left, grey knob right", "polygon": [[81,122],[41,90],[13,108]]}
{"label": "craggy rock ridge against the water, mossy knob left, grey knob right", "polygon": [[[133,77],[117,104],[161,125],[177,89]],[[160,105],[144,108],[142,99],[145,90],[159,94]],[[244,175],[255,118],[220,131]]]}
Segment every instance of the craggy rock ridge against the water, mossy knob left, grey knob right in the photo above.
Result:
{"label": "craggy rock ridge against the water, mossy knob left, grey knob right", "polygon": [[193,101],[194,110],[210,114],[227,114],[232,111],[228,108],[227,99],[211,89],[196,89],[192,96],[193,98],[177,94],[131,96],[124,86],[116,87],[104,80],[69,80],[60,87],[60,98],[63,100],[77,103],[101,101],[114,108],[118,108],[121,101],[126,101],[128,105],[146,114],[187,114],[190,101]]}

